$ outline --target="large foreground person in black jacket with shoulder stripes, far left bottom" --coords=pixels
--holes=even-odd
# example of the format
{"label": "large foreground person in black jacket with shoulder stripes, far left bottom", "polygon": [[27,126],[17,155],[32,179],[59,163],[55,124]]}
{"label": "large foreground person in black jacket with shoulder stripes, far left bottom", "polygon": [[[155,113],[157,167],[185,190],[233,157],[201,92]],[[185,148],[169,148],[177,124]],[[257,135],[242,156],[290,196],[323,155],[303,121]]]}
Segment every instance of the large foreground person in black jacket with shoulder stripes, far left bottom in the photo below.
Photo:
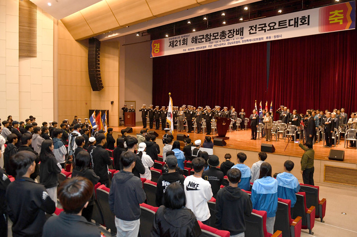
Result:
{"label": "large foreground person in black jacket with shoulder stripes, far left bottom", "polygon": [[[24,134],[25,135],[25,134]],[[13,237],[41,237],[45,212],[52,214],[56,204],[45,187],[30,179],[36,169],[36,154],[20,151],[10,159],[16,179],[6,189],[7,213],[12,221]]]}

